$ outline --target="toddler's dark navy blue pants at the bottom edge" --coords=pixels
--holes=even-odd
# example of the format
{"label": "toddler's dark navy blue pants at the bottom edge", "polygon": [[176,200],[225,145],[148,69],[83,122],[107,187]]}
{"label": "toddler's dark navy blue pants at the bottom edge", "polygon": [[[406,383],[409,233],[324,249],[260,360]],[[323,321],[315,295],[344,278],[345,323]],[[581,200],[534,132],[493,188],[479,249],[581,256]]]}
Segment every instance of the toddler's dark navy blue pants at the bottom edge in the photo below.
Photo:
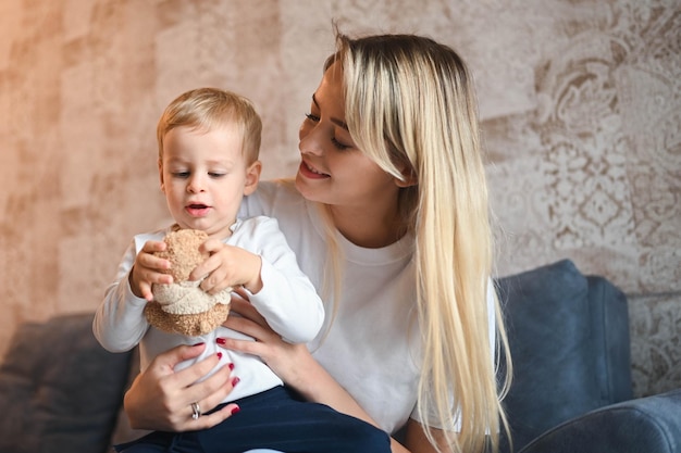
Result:
{"label": "toddler's dark navy blue pants at the bottom edge", "polygon": [[387,433],[329,406],[300,401],[276,387],[236,402],[240,411],[200,431],[154,431],[117,445],[121,453],[243,453],[272,449],[286,453],[389,453]]}

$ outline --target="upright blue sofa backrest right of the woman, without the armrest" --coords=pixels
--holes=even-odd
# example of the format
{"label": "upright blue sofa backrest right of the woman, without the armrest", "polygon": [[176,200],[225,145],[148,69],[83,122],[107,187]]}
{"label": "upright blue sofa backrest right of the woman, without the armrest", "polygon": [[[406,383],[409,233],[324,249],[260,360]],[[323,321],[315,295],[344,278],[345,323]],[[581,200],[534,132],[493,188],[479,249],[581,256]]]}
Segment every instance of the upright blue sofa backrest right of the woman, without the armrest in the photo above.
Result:
{"label": "upright blue sofa backrest right of the woman, without the armrest", "polygon": [[[615,286],[562,260],[499,278],[497,289],[513,360],[504,404],[516,451],[560,423],[631,398],[627,299]],[[510,450],[503,436],[502,451]]]}

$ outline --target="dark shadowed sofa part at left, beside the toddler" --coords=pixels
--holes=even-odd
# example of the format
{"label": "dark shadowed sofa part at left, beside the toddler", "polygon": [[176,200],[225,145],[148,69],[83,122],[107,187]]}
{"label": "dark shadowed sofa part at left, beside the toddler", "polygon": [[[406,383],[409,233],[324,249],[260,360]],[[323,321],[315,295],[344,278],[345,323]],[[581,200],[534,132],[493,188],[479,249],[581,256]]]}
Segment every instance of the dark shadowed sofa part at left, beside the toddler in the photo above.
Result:
{"label": "dark shadowed sofa part at left, beside the toddler", "polygon": [[99,345],[90,313],[20,326],[0,365],[0,452],[107,451],[129,357]]}

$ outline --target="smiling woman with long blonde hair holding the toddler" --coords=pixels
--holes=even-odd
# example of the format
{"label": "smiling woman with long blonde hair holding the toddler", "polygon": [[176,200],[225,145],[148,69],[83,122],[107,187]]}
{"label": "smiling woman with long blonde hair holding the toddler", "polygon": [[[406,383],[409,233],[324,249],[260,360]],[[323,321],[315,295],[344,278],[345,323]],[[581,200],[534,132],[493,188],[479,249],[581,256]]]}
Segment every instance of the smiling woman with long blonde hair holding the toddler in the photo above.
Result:
{"label": "smiling woman with long blonde hair holding the toddler", "polygon": [[[505,420],[495,320],[507,348],[488,284],[486,183],[463,62],[423,37],[337,34],[299,138],[295,187],[261,185],[243,214],[278,219],[326,301],[325,329],[308,349],[294,347],[234,300],[244,317],[226,325],[256,341],[219,342],[260,356],[307,400],[392,435],[404,428],[394,452],[495,445]],[[211,274],[216,262],[194,275]],[[221,276],[203,289],[223,289]],[[135,380],[125,398],[134,427],[200,429],[230,416],[223,408],[190,417],[191,403],[213,407],[231,391],[226,372],[193,385],[211,358],[173,373],[201,349],[169,351]]]}

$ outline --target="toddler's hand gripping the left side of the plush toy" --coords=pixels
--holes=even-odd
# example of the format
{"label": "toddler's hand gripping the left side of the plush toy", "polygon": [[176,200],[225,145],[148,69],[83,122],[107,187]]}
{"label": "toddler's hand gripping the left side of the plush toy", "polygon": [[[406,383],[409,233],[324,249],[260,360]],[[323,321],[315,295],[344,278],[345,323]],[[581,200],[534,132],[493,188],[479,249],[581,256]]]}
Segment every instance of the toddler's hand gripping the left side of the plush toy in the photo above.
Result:
{"label": "toddler's hand gripping the left side of the plush toy", "polygon": [[172,276],[163,274],[163,270],[170,268],[170,261],[153,254],[164,251],[166,247],[163,241],[147,241],[145,247],[137,253],[128,280],[133,293],[138,298],[151,301],[153,300],[151,285],[170,285],[173,282]]}

